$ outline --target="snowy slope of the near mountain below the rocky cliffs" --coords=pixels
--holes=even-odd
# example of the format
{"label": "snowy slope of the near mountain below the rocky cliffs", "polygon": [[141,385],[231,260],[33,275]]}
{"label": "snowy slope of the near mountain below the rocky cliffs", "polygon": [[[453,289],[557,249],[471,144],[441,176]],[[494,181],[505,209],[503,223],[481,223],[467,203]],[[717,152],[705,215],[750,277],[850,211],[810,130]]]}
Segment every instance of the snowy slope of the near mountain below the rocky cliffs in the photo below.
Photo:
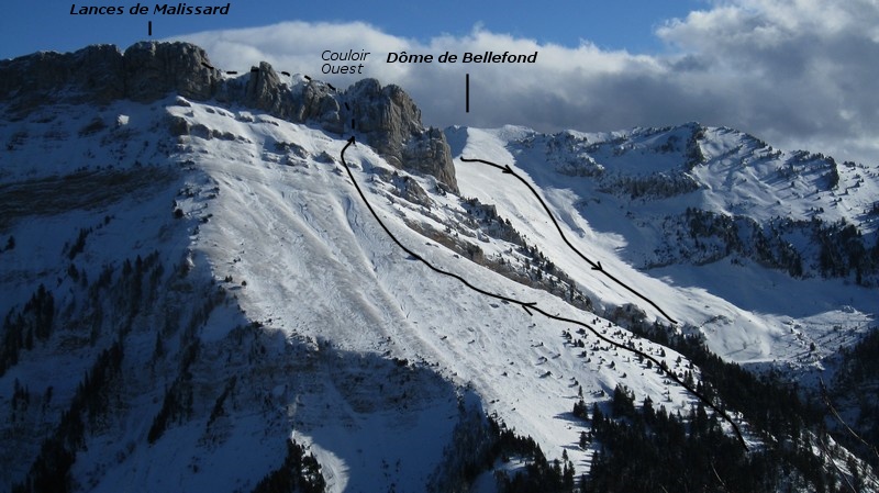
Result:
{"label": "snowy slope of the near mountain below the rocky cliffs", "polygon": [[[175,137],[164,130],[175,117],[210,132]],[[587,344],[576,348],[563,337],[570,326],[475,295],[408,260],[335,161],[342,138],[181,99],[59,109],[42,131],[46,119],[37,113],[3,128],[7,142],[27,134],[16,137],[2,169],[32,205],[4,232],[15,246],[2,254],[10,293],[2,307],[26,316],[22,306],[43,283],[58,313],[52,333],[22,343],[1,377],[10,390],[8,429],[20,436],[4,449],[37,458],[40,440],[20,440],[40,423],[45,437],[85,444],[70,469],[77,489],[247,491],[279,463],[292,433],[316,456],[330,491],[418,491],[449,446],[459,402],[497,414],[550,457],[568,447],[585,471],[590,452],[570,448],[583,426],[569,414],[580,389],[587,402],[607,399],[617,383],[669,410],[686,412],[693,402],[632,355],[588,334],[577,336]],[[77,131],[97,120],[124,123]],[[55,147],[55,138],[66,141]],[[105,144],[116,142],[126,145]],[[394,170],[363,145],[347,158],[374,206],[421,255],[486,290],[596,321],[413,231],[411,224],[442,232],[468,214],[452,194],[430,192],[430,208],[398,195],[396,182],[431,191],[433,178]],[[126,193],[74,201],[129,175],[136,186]],[[40,180],[53,177],[73,183],[60,188],[71,212],[38,208],[47,197]],[[487,256],[514,248],[478,228],[469,235],[463,240]],[[145,298],[132,301],[132,293]],[[597,322],[610,337],[635,340]],[[86,399],[78,389],[114,341],[124,358],[97,391],[109,401],[76,413],[87,432],[70,437],[52,423]],[[637,345],[660,354],[649,341]],[[670,367],[687,366],[664,354]],[[26,418],[12,392],[19,385],[26,388]],[[43,411],[33,414],[36,407]],[[15,464],[7,484],[31,466],[11,457],[4,463]]]}

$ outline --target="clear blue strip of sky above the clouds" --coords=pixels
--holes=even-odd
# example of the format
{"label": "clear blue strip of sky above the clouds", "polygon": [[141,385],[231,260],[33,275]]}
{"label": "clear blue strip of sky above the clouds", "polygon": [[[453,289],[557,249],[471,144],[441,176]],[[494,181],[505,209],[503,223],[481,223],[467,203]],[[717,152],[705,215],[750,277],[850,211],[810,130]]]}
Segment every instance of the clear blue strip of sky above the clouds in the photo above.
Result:
{"label": "clear blue strip of sky above the clouds", "polygon": [[[197,16],[71,15],[70,7],[123,5],[134,0],[48,0],[34,3],[7,1],[0,15],[0,58],[37,51],[68,52],[88,44],[112,43],[126,47],[146,40],[147,21],[153,37],[164,38],[207,30],[254,27],[279,21],[364,21],[397,36],[425,41],[448,33],[461,35],[477,24],[492,32],[508,33],[539,42],[577,46],[581,40],[602,48],[656,53],[666,49],[654,31],[674,18],[708,7],[704,0],[588,0],[545,4],[510,1],[294,1],[231,0],[229,15]],[[225,4],[226,0],[216,0]],[[155,5],[144,1],[142,4]],[[170,3],[176,4],[176,2]],[[214,4],[204,0],[189,5]]]}

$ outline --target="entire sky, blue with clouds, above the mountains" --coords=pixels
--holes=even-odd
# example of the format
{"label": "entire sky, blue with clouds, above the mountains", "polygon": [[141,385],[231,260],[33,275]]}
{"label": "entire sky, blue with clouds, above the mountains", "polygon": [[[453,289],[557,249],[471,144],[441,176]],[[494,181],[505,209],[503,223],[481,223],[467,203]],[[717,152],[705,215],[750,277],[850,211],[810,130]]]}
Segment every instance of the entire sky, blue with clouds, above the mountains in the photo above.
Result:
{"label": "entire sky, blue with clouds, above the mountains", "polygon": [[[71,4],[7,1],[0,60],[93,43],[124,49],[148,37],[152,20],[154,40],[196,43],[226,70],[265,60],[340,88],[363,77],[397,83],[427,125],[603,132],[698,121],[779,148],[879,165],[879,0],[233,0],[229,15],[202,19],[89,18],[70,15]],[[375,55],[361,75],[323,76],[324,49]],[[513,66],[383,61],[403,49],[539,57]]]}

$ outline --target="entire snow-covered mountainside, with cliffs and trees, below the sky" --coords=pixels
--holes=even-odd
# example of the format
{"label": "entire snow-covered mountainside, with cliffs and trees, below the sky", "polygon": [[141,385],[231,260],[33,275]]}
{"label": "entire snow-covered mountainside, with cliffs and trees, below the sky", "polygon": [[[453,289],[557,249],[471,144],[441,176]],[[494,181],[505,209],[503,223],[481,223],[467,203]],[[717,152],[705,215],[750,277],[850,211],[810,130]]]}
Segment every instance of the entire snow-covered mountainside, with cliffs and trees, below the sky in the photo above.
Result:
{"label": "entire snow-covered mountainside, with cliffs and trees, below the sky", "polygon": [[876,325],[876,165],[439,131],[185,44],[1,61],[0,112],[4,489],[877,484],[817,384]]}

